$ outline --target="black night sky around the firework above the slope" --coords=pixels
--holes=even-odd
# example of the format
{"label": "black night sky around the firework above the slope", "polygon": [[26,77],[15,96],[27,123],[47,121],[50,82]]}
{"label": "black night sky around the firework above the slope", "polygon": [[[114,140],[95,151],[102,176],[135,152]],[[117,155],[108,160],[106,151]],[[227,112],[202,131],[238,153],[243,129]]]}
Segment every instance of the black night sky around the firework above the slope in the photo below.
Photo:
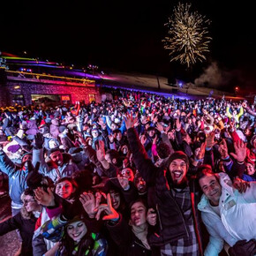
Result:
{"label": "black night sky around the firework above the slope", "polygon": [[[5,1],[7,2],[7,1]],[[163,49],[178,1],[15,1],[5,3],[0,50],[102,70],[195,79],[216,63],[230,87],[255,85],[256,19],[252,1],[191,1],[211,20],[207,61],[188,71]],[[68,3],[69,2],[69,3]],[[42,4],[43,5],[40,5]],[[225,78],[224,78],[225,77]]]}

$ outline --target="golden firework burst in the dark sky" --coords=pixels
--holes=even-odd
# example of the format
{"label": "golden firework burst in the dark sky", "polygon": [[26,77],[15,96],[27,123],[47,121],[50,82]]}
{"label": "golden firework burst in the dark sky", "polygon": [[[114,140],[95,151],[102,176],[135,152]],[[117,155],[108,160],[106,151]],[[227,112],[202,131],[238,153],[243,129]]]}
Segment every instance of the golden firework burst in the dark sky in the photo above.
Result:
{"label": "golden firework burst in the dark sky", "polygon": [[191,4],[177,4],[169,22],[164,25],[168,26],[168,36],[162,40],[164,49],[169,50],[170,61],[179,61],[187,67],[206,60],[205,53],[212,40],[207,36],[210,21],[190,8]]}

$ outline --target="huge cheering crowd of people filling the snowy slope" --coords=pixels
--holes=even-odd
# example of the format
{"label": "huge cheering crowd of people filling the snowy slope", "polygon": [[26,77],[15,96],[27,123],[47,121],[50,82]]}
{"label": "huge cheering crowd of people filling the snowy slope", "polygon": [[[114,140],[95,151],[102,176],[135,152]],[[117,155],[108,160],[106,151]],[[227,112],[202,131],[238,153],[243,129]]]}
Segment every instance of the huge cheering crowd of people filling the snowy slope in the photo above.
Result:
{"label": "huge cheering crowd of people filling the snowy slope", "polygon": [[255,255],[254,108],[124,89],[2,108],[0,236],[26,256]]}

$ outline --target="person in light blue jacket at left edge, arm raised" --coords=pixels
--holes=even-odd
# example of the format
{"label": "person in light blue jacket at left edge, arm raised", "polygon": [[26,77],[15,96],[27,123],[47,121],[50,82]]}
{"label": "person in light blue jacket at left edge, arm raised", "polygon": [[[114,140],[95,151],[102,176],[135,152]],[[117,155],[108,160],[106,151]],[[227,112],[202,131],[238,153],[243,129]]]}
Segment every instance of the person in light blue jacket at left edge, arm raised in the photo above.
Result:
{"label": "person in light blue jacket at left edge, arm raised", "polygon": [[11,214],[17,215],[23,206],[20,199],[22,192],[27,188],[26,176],[29,172],[27,162],[32,161],[32,153],[28,152],[21,157],[21,167],[16,166],[0,148],[0,169],[9,177],[9,194],[11,197]]}

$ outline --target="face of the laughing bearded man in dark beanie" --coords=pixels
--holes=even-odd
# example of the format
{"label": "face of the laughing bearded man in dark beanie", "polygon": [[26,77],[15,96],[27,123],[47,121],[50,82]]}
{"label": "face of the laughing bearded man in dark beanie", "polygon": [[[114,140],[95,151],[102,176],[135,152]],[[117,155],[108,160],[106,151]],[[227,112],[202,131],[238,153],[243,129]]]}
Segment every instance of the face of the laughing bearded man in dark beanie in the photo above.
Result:
{"label": "face of the laughing bearded man in dark beanie", "polygon": [[186,163],[182,159],[175,159],[169,164],[169,172],[174,184],[182,184],[187,173]]}

